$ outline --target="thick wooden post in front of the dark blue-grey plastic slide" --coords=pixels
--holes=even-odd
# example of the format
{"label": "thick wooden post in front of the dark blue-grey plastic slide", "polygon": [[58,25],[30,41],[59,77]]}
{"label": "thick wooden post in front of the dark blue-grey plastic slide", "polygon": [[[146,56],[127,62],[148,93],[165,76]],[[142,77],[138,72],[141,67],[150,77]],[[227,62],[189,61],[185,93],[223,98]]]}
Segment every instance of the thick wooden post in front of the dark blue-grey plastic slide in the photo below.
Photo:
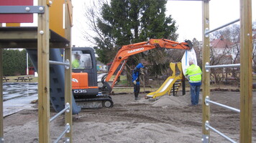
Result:
{"label": "thick wooden post in front of the dark blue-grey plastic slide", "polygon": [[37,58],[38,58],[38,124],[39,142],[50,142],[50,74],[49,74],[49,9],[46,0],[39,0],[45,13],[38,14]]}

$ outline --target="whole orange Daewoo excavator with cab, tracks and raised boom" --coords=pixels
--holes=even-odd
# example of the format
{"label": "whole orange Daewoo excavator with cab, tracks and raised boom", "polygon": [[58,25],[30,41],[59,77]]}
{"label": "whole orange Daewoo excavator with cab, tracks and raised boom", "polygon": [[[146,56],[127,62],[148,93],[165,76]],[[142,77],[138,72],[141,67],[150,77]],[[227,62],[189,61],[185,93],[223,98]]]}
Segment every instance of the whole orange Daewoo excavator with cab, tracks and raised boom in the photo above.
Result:
{"label": "whole orange Daewoo excavator with cab, tracks and raised boom", "polygon": [[[82,108],[113,107],[113,102],[108,93],[114,87],[116,80],[124,69],[129,56],[148,51],[150,49],[191,49],[191,41],[178,43],[168,39],[150,39],[137,44],[122,46],[117,52],[108,74],[101,79],[102,87],[98,87],[96,58],[91,48],[73,48],[72,50],[72,91],[78,105]],[[109,79],[122,63],[121,68],[109,85]]]}

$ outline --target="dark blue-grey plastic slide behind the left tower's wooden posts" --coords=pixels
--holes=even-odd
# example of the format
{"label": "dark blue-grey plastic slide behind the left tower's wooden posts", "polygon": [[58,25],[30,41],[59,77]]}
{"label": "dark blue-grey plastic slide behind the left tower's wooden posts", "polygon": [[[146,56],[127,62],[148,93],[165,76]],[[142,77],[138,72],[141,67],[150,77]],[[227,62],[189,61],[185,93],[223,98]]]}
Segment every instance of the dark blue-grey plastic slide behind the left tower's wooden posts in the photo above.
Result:
{"label": "dark blue-grey plastic slide behind the left tower's wooden posts", "polygon": [[[61,49],[50,49],[50,60],[63,61]],[[37,49],[27,49],[32,64],[37,69]],[[50,102],[56,112],[60,112],[65,108],[65,71],[64,66],[58,64],[50,64]],[[72,97],[72,112],[78,114],[81,107],[76,104]]]}

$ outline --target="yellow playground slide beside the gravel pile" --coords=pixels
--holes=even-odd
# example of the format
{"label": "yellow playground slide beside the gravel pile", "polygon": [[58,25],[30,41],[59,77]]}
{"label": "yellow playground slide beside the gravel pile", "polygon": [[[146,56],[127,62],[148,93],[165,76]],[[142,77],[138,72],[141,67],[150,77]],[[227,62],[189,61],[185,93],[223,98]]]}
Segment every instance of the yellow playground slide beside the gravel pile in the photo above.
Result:
{"label": "yellow playground slide beside the gravel pile", "polygon": [[165,82],[156,92],[150,92],[149,94],[147,94],[146,98],[155,99],[156,97],[163,96],[166,92],[168,92],[173,87],[173,85],[177,80],[182,79],[183,72],[181,68],[181,63],[180,62],[177,63],[178,69],[180,70],[180,74],[178,75],[176,75],[175,66],[176,66],[175,63],[170,63],[170,69],[172,69],[173,75],[168,77],[168,79],[165,80]]}

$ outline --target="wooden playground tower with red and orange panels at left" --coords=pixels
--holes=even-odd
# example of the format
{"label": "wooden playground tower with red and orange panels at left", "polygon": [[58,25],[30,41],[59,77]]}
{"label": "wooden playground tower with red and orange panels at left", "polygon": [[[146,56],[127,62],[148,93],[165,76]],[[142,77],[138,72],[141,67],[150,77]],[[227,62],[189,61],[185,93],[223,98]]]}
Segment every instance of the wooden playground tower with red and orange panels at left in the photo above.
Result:
{"label": "wooden playground tower with red and orange panels at left", "polygon": [[[38,72],[38,124],[39,142],[50,141],[50,122],[65,112],[65,130],[58,142],[65,135],[66,142],[72,142],[72,96],[71,96],[71,61],[70,29],[72,26],[72,4],[70,0],[47,1],[38,0],[38,6],[33,6],[33,0],[27,1],[1,1],[1,23],[6,27],[0,27],[0,47],[37,49]],[[12,15],[9,15],[12,13]],[[4,15],[3,15],[4,14]],[[37,27],[20,27],[19,23],[31,22],[32,14],[38,14]],[[4,16],[4,18],[3,18]],[[13,19],[6,19],[12,17]],[[63,19],[65,18],[65,21]],[[11,24],[9,24],[11,23]],[[2,26],[2,24],[0,25]],[[50,61],[50,48],[65,50],[64,59],[67,62]],[[2,54],[2,50],[0,50]],[[2,56],[1,56],[2,57]],[[0,60],[0,65],[2,65]],[[63,81],[65,107],[50,119],[50,64],[67,66]],[[0,77],[2,77],[2,66]],[[63,77],[62,77],[63,78]],[[0,82],[0,142],[4,142],[3,128],[3,94],[2,81]],[[64,103],[63,102],[63,103]],[[64,104],[63,104],[64,105]]]}

